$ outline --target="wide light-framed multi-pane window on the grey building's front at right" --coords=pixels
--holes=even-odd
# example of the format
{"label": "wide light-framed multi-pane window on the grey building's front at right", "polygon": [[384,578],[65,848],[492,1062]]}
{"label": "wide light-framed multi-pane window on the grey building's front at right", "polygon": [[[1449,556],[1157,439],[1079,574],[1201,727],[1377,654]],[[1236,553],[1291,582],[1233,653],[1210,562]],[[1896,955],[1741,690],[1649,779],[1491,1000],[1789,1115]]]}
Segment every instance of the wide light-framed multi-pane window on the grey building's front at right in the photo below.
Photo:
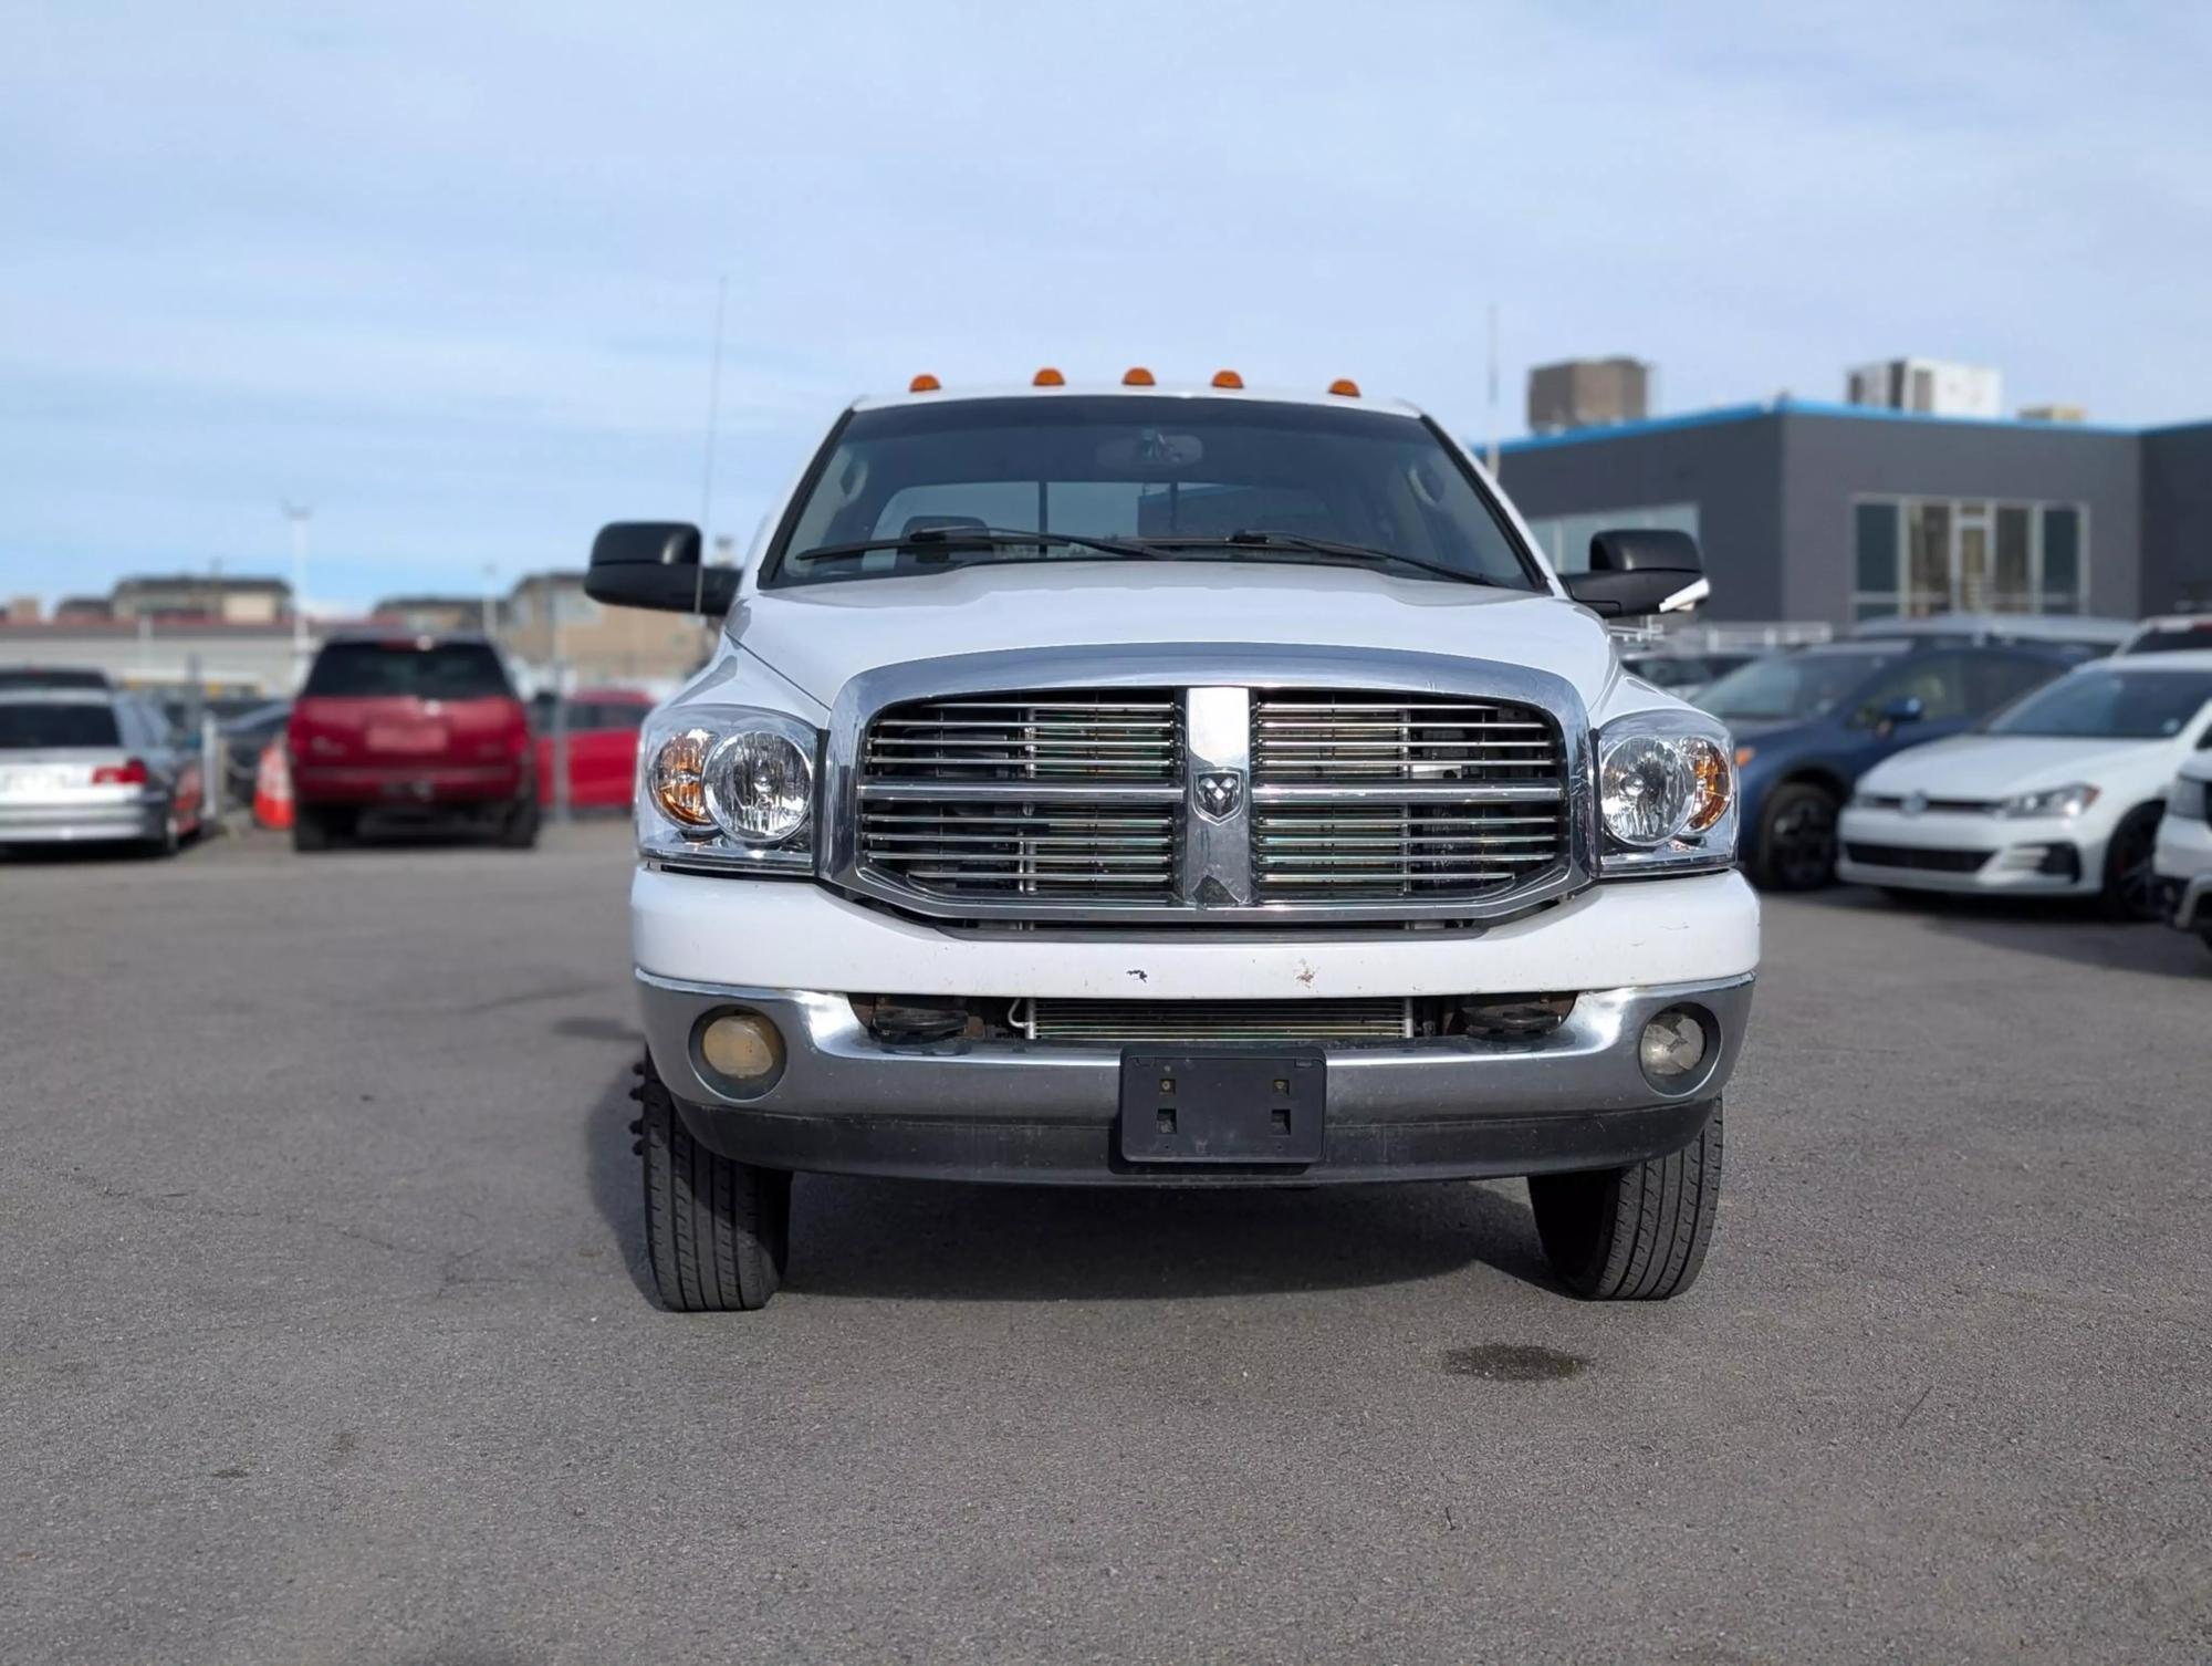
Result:
{"label": "wide light-framed multi-pane window on the grey building's front at right", "polygon": [[1860,498],[1851,504],[1851,617],[2079,613],[2081,504]]}

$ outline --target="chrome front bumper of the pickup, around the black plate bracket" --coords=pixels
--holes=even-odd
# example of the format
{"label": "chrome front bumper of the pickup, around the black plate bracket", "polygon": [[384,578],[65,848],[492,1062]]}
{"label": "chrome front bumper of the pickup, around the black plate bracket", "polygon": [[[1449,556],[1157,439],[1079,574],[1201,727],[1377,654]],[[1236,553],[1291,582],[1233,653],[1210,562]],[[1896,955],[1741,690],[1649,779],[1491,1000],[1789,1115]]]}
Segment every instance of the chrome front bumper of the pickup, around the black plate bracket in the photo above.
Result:
{"label": "chrome front bumper of the pickup, around the black plate bracket", "polygon": [[[770,1168],[1093,1186],[1310,1186],[1613,1168],[1697,1135],[1725,1089],[1752,978],[1582,993],[1548,1035],[1332,1044],[1321,1164],[1267,1170],[1130,1166],[1117,1155],[1121,1051],[1066,1042],[878,1042],[843,993],[743,989],[639,973],[646,1042],[692,1135]],[[1710,1018],[1705,1066],[1679,1091],[1637,1062],[1644,1024]],[[745,1007],[783,1035],[761,1095],[701,1069],[701,1020]]]}

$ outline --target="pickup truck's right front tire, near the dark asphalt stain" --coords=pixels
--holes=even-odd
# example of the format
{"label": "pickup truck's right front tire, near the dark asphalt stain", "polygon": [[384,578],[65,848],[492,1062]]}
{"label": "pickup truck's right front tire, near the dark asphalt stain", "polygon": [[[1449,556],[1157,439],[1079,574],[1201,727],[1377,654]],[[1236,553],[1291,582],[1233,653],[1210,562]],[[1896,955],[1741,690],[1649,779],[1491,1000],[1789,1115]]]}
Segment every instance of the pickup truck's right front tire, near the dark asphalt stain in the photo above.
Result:
{"label": "pickup truck's right front tire, near the dark asphalt stain", "polygon": [[1721,1106],[1681,1150],[1628,1168],[1531,1175],[1544,1257],[1584,1301],[1666,1301],[1697,1283],[1721,1206]]}

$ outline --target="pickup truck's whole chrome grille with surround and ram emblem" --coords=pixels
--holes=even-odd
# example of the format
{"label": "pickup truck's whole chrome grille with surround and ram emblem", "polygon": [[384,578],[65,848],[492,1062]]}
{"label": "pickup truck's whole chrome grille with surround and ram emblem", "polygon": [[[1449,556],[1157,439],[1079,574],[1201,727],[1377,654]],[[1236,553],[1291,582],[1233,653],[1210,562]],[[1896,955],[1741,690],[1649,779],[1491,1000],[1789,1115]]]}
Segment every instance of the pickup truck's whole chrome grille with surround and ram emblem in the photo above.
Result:
{"label": "pickup truck's whole chrome grille with surround and ram emblem", "polygon": [[[1312,699],[1301,690],[1354,706],[1334,715],[1343,723],[1389,721],[1411,728],[1411,739],[1396,728],[1340,728],[1321,763],[1360,768],[1318,774],[1310,754],[1332,737],[1263,732],[1256,717],[1279,701]],[[1161,701],[1175,712],[1172,752],[1159,743]],[[1444,710],[1378,717],[1378,706]],[[1303,726],[1316,715],[1274,717]],[[1546,732],[1504,728],[1515,721]],[[1084,752],[1086,730],[1146,743]],[[907,743],[878,746],[878,737]],[[1389,752],[1354,746],[1385,739]],[[1526,746],[1540,739],[1546,743]],[[1115,768],[1093,772],[1091,757]],[[1228,819],[1201,816],[1197,777],[1223,768],[1248,779],[1243,803]],[[852,677],[832,706],[823,794],[823,881],[958,925],[1480,925],[1595,878],[1590,728],[1575,686],[1528,666],[1455,655],[1139,644],[880,666]],[[1307,825],[1314,821],[1321,825]],[[1261,825],[1276,843],[1261,845]],[[1548,843],[1524,843],[1533,834]],[[1391,843],[1352,843],[1376,836]],[[1323,843],[1283,843],[1314,839]],[[1391,863],[1371,861],[1380,850],[1394,852]],[[1531,861],[1537,850],[1548,856]],[[1290,854],[1354,861],[1287,863]],[[1480,865],[1471,861],[1478,854]],[[1265,861],[1274,861],[1272,881],[1263,881]],[[1298,870],[1363,878],[1290,878]]]}

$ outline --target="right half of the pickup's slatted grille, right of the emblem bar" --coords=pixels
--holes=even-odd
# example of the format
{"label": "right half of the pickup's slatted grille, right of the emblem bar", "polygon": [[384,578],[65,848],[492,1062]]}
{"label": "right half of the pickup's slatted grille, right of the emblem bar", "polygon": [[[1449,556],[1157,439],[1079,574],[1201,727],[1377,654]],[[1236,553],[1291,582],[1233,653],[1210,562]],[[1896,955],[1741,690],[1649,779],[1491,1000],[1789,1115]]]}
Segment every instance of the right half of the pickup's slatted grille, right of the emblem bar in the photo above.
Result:
{"label": "right half of the pickup's slatted grille, right of the emblem bar", "polygon": [[1254,695],[1252,799],[1263,898],[1480,898],[1568,854],[1559,730],[1533,706]]}

